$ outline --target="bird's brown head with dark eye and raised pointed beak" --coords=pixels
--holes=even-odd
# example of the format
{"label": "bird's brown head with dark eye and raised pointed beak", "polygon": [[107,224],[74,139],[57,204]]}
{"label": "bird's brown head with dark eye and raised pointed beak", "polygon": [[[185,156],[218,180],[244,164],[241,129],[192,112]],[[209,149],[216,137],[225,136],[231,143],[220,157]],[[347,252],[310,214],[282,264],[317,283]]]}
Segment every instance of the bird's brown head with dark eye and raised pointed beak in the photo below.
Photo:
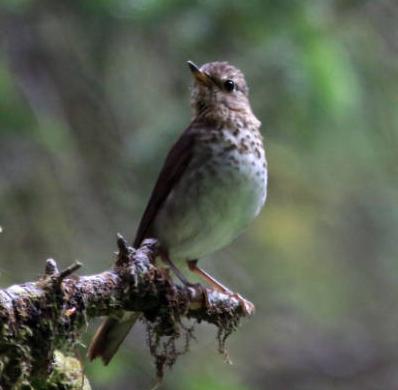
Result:
{"label": "bird's brown head with dark eye and raised pointed beak", "polygon": [[249,88],[243,73],[227,62],[210,62],[201,67],[188,61],[194,77],[191,104],[194,114],[208,110],[229,116],[231,111],[251,113]]}

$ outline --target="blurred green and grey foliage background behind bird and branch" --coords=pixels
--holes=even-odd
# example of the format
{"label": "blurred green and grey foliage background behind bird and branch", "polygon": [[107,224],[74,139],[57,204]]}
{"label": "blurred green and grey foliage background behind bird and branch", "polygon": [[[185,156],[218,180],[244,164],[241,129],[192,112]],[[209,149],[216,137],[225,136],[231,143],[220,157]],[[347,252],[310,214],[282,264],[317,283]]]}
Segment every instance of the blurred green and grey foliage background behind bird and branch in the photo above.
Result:
{"label": "blurred green and grey foliage background behind bird and branch", "polygon": [[[227,60],[263,123],[269,196],[202,264],[257,313],[232,366],[198,326],[163,388],[398,388],[397,20],[395,0],[2,0],[1,286],[48,257],[108,267],[189,123],[185,61]],[[85,368],[95,389],[154,384],[142,327]]]}

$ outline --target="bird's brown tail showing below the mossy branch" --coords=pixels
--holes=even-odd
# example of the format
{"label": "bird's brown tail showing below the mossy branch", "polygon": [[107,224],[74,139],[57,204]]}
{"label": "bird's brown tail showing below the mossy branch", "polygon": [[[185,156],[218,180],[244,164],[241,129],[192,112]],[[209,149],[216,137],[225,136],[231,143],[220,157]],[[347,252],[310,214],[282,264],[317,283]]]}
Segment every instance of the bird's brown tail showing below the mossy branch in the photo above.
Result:
{"label": "bird's brown tail showing below the mossy branch", "polygon": [[140,313],[125,312],[122,318],[108,317],[100,325],[88,348],[90,360],[100,357],[107,365],[119,349],[120,344],[134,326]]}

